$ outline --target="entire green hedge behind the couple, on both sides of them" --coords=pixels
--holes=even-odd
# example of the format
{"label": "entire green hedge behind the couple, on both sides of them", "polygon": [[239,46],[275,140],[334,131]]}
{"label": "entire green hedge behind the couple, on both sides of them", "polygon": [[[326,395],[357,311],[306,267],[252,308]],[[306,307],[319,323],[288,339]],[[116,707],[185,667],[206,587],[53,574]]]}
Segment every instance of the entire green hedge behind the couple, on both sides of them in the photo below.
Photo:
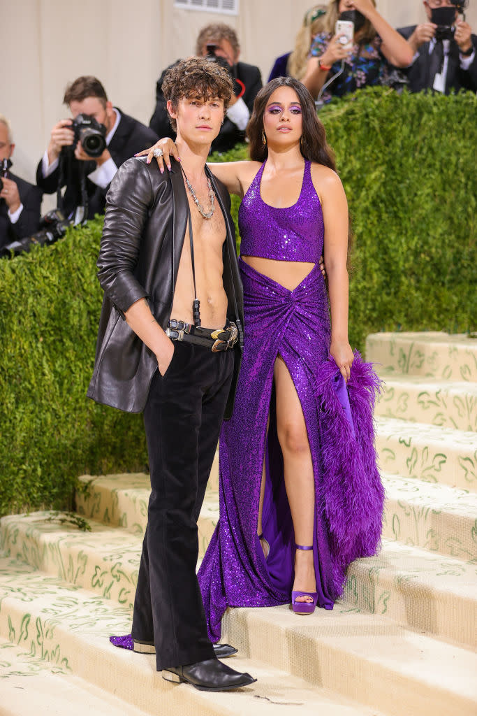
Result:
{"label": "entire green hedge behind the couple, on both sides of them", "polygon": [[[361,349],[373,331],[476,329],[476,105],[368,89],[320,115],[354,220],[350,339]],[[85,397],[100,232],[94,221],[0,261],[0,513],[69,508],[77,475],[146,465],[142,418]]]}

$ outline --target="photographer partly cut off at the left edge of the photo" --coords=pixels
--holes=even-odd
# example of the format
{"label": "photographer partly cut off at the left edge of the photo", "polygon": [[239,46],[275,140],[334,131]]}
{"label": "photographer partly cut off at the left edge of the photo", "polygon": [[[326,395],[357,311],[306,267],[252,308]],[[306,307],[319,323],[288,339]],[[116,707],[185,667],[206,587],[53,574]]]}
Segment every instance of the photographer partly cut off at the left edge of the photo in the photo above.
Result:
{"label": "photographer partly cut off at the left edge of the photo", "polygon": [[41,190],[11,174],[14,153],[9,120],[0,115],[0,249],[38,231]]}

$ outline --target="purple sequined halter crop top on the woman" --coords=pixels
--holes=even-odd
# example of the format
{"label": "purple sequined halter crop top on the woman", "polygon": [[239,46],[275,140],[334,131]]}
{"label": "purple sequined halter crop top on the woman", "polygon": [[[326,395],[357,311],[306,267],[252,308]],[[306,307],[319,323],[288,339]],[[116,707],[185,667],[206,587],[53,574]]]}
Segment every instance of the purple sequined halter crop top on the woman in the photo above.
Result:
{"label": "purple sequined halter crop top on the woman", "polygon": [[323,252],[325,226],[310,165],[310,162],[305,161],[303,184],[297,203],[280,209],[265,204],[260,196],[265,162],[262,164],[239,208],[242,256],[318,263]]}

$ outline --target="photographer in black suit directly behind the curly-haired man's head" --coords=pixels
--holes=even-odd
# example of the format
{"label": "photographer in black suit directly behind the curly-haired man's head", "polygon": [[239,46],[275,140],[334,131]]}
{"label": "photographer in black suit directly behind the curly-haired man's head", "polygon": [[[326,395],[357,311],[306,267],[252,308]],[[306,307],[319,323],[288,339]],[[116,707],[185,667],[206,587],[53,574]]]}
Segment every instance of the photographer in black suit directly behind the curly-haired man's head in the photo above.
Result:
{"label": "photographer in black suit directly behind the curly-haired man's head", "polygon": [[[195,51],[197,57],[210,57],[215,62],[228,69],[234,82],[234,95],[225,115],[224,123],[220,128],[218,137],[212,142],[211,152],[226,152],[237,142],[245,140],[245,129],[253,109],[253,102],[257,92],[262,87],[260,69],[253,64],[239,62],[240,44],[237,34],[232,27],[224,23],[210,24],[200,31]],[[179,60],[177,60],[179,62]],[[177,64],[175,62],[174,64]],[[174,65],[170,65],[174,67]],[[149,122],[159,137],[171,137],[175,132],[169,123],[166,100],[162,94],[162,82],[167,70],[164,69],[156,84],[156,108]]]}

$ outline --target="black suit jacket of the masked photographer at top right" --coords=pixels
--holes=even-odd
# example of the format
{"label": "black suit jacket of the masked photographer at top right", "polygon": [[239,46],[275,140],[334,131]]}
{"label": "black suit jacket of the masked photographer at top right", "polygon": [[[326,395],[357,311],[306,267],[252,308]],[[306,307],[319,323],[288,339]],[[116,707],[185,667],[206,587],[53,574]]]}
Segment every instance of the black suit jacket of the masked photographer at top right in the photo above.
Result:
{"label": "black suit jacket of the masked photographer at top right", "polygon": [[[398,32],[407,40],[413,34],[415,28],[415,25],[400,27]],[[476,50],[476,35],[472,35],[472,44],[474,50]],[[402,68],[401,72],[404,72],[408,77],[410,92],[432,89],[434,76],[431,77],[431,55],[429,54],[428,42],[425,42],[419,48],[415,62],[408,68]],[[446,95],[452,90],[458,92],[459,89],[470,89],[471,92],[477,92],[477,55],[474,57],[469,69],[462,69],[458,44],[451,41],[446,75]]]}

